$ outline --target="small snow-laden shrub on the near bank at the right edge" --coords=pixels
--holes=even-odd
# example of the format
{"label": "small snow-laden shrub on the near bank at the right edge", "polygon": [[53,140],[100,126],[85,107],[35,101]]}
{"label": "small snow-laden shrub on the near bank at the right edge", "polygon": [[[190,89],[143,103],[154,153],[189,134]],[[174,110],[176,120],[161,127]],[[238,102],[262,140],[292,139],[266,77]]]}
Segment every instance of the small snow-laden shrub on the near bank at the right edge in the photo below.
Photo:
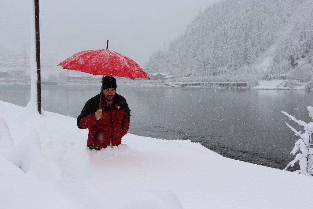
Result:
{"label": "small snow-laden shrub on the near bank at the right edge", "polygon": [[[313,107],[306,107],[309,112],[310,118],[313,121]],[[300,126],[303,126],[305,133],[301,133],[301,131],[297,131],[295,128],[291,127],[288,123],[286,125],[295,133],[296,136],[299,136],[300,139],[296,141],[295,147],[292,149],[290,154],[295,155],[295,153],[300,151],[302,153],[298,153],[295,156],[295,159],[292,160],[285,167],[284,170],[291,165],[293,167],[297,161],[299,161],[300,170],[296,170],[294,172],[304,174],[304,175],[313,175],[313,144],[312,144],[312,133],[313,133],[313,122],[305,123],[301,120],[297,120],[295,117],[289,115],[288,113],[281,111],[284,115],[286,115],[290,120],[298,123]]]}

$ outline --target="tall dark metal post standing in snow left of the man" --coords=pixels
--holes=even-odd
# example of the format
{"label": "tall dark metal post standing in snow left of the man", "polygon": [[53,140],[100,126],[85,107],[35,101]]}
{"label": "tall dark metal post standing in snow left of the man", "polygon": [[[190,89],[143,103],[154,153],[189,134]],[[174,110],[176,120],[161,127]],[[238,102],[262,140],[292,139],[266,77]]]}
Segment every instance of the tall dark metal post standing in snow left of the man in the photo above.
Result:
{"label": "tall dark metal post standing in snow left of the man", "polygon": [[34,1],[35,1],[35,28],[36,28],[37,105],[38,105],[38,112],[41,114],[39,0],[34,0]]}

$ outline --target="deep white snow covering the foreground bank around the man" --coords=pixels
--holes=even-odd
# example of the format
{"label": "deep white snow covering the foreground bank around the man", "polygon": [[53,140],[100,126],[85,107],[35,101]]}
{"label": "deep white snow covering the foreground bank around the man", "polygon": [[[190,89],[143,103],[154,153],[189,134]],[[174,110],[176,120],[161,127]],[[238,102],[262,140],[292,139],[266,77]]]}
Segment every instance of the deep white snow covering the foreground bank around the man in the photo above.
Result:
{"label": "deep white snow covering the foreground bank around the man", "polygon": [[[86,149],[76,119],[0,101],[0,208],[309,208],[312,177],[189,140]],[[253,134],[253,133],[251,133]],[[160,133],[162,135],[162,133]]]}

